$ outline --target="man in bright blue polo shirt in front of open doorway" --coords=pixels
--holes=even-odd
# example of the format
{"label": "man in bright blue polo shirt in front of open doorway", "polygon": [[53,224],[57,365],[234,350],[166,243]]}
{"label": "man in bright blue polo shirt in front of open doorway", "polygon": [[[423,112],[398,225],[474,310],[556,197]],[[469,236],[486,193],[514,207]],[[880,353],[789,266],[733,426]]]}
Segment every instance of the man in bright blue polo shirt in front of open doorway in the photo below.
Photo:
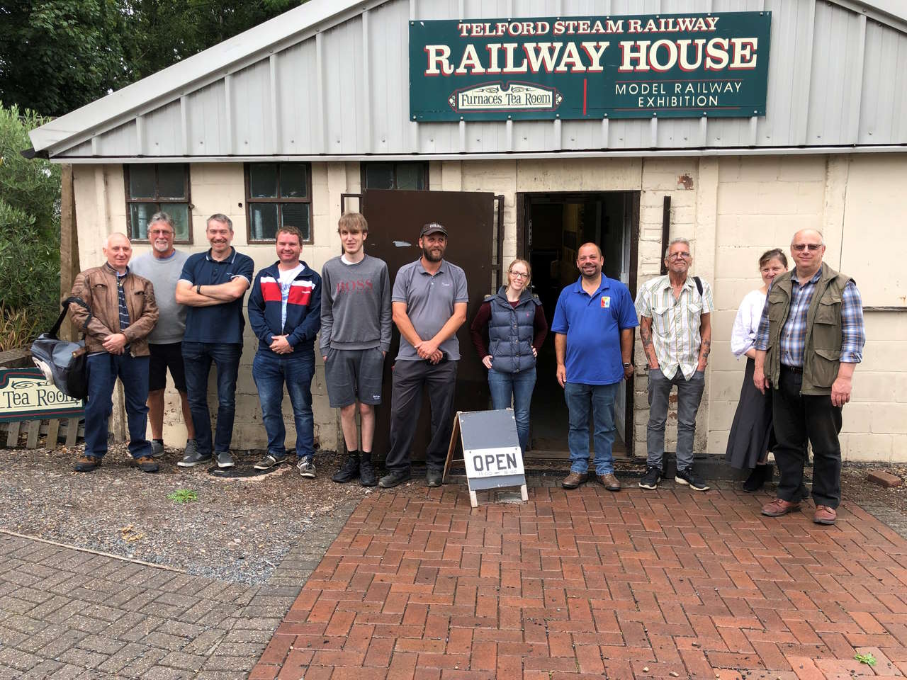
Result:
{"label": "man in bright blue polo shirt in front of open doorway", "polygon": [[577,251],[580,278],[561,290],[551,331],[558,383],[570,412],[571,471],[561,482],[576,489],[589,479],[589,414],[595,424],[595,477],[608,491],[620,491],[614,476],[614,402],[620,382],[633,374],[633,328],[639,325],[629,290],[602,276],[601,248],[584,243]]}

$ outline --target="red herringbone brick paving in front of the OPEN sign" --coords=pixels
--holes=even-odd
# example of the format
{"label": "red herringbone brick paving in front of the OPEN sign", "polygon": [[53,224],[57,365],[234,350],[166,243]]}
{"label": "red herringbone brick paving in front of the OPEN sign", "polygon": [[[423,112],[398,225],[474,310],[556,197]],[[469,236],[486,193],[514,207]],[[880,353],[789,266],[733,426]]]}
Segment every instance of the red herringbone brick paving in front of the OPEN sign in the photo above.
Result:
{"label": "red herringbone brick paving in front of the OPEN sign", "polygon": [[[364,500],[252,678],[907,675],[907,541],[844,504],[663,484],[535,487],[469,507],[456,487]],[[871,668],[853,659],[872,651]]]}

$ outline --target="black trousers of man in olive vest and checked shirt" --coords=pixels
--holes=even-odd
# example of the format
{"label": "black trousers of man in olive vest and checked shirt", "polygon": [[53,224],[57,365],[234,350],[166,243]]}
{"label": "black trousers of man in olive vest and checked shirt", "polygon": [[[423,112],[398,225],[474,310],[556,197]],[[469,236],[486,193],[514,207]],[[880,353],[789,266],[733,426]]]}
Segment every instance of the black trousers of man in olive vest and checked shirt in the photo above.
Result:
{"label": "black trousers of man in olive vest and checked shirt", "polygon": [[841,502],[841,407],[828,394],[801,394],[803,374],[781,366],[778,389],[772,395],[775,421],[775,462],[778,498],[796,502],[805,493],[803,469],[806,443],[813,444],[813,500],[837,508]]}

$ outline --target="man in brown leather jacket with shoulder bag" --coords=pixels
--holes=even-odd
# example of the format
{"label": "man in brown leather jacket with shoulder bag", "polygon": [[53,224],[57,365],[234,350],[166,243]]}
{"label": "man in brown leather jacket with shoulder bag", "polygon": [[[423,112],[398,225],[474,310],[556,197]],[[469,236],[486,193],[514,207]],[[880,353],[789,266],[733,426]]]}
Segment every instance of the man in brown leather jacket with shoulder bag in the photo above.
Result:
{"label": "man in brown leather jacket with shoulder bag", "polygon": [[107,262],[75,277],[72,296],[81,297],[92,310],[71,305],[73,324],[85,334],[88,351],[88,400],[85,404],[85,452],[75,471],[90,472],[107,452],[107,423],[113,410],[117,376],[126,397],[129,452],[143,472],[158,471],[145,439],[148,424],[147,336],[158,321],[154,287],[147,278],[129,270],[132,244],[124,234],[111,234],[103,248]]}

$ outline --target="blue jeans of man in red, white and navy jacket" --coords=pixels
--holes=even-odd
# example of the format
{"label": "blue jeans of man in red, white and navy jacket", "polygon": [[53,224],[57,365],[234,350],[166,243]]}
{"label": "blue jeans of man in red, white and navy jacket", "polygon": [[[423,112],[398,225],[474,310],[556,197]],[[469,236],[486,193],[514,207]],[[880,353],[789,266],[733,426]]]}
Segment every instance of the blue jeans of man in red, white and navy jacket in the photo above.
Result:
{"label": "blue jeans of man in red, white and navy jacket", "polygon": [[312,416],[312,377],[315,354],[311,350],[297,354],[275,355],[258,351],[252,362],[252,377],[258,387],[261,421],[268,432],[268,453],[275,458],[287,455],[284,441],[287,428],[283,421],[283,387],[287,384],[289,402],[293,404],[296,422],[296,455],[309,461],[315,455],[315,419]]}

